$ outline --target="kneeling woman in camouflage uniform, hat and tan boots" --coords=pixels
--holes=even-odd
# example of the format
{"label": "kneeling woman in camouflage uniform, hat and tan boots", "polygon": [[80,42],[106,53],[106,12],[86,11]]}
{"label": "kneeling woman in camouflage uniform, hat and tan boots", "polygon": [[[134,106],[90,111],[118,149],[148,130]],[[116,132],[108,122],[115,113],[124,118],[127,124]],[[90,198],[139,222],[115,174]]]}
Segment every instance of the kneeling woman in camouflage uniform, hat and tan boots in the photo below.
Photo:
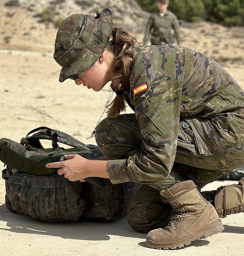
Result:
{"label": "kneeling woman in camouflage uniform, hat and tan boots", "polygon": [[[221,232],[220,216],[243,211],[244,181],[224,189],[225,202],[223,189],[211,192],[216,209],[199,192],[244,165],[244,92],[214,60],[181,46],[138,45],[113,28],[108,9],[65,19],[54,59],[62,66],[60,82],[70,78],[99,91],[112,81],[116,97],[96,129],[107,159],[67,155],[47,167],[60,167],[70,181],[142,183],[127,219],[149,232],[151,248],[183,247]],[[135,114],[120,115],[125,103]]]}

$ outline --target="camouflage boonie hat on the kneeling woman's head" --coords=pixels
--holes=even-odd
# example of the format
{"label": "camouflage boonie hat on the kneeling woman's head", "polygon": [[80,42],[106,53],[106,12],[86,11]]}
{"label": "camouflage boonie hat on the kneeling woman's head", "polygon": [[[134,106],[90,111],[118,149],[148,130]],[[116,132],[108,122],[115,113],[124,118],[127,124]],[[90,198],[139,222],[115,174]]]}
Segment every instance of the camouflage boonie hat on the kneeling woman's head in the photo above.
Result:
{"label": "camouflage boonie hat on the kneeling woman's head", "polygon": [[100,58],[112,33],[112,23],[109,9],[103,9],[96,17],[73,14],[62,22],[53,54],[62,66],[60,82],[84,72]]}

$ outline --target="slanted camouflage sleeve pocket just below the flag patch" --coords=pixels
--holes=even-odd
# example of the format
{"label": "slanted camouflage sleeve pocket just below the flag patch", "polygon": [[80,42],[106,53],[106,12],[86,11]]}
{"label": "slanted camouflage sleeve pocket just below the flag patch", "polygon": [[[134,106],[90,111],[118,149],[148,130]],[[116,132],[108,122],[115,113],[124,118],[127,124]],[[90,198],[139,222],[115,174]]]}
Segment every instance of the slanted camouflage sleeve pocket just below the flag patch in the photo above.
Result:
{"label": "slanted camouflage sleeve pocket just below the flag patch", "polygon": [[142,137],[152,143],[159,141],[170,129],[170,125],[146,98],[136,106],[135,115]]}

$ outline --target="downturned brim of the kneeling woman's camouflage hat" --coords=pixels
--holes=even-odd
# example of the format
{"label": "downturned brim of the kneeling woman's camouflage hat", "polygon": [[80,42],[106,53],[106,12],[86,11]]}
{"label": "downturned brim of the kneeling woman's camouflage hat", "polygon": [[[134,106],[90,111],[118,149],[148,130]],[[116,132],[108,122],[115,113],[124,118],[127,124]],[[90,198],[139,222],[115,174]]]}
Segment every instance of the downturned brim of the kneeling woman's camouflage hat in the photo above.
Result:
{"label": "downturned brim of the kneeling woman's camouflage hat", "polygon": [[[101,16],[98,19],[95,19],[96,24],[91,32],[87,45],[83,49],[76,49],[81,52],[77,55],[73,63],[62,67],[59,76],[60,82],[65,81],[71,75],[78,75],[86,71],[96,63],[106,49],[113,28],[112,16],[108,9],[103,9],[100,14]],[[101,38],[101,35],[99,34],[101,31],[104,38],[99,44],[94,46],[94,42],[98,42],[98,36],[100,36],[99,39]]]}

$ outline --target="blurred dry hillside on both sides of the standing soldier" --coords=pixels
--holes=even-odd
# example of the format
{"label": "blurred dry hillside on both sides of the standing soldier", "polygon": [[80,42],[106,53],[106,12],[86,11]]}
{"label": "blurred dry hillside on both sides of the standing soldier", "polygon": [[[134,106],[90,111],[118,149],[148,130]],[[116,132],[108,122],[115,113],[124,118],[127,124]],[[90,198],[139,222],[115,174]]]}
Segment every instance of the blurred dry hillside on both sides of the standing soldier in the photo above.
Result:
{"label": "blurred dry hillside on both sides of the standing soldier", "polygon": [[[53,9],[53,22],[43,11]],[[103,8],[113,14],[114,27],[123,27],[142,43],[149,13],[135,0],[1,0],[0,49],[53,52],[54,21],[74,13],[95,15]],[[244,63],[244,27],[227,28],[211,22],[181,22],[182,45],[201,51],[220,63]]]}

